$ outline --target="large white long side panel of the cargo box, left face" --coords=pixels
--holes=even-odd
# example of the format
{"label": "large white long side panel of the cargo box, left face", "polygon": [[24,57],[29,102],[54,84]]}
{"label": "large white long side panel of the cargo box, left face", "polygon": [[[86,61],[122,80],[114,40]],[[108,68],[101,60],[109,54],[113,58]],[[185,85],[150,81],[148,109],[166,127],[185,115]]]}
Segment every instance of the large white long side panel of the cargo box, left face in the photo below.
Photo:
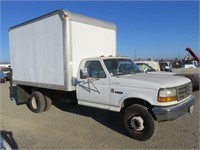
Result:
{"label": "large white long side panel of the cargo box, left face", "polygon": [[64,86],[63,27],[58,14],[11,29],[9,38],[14,80]]}

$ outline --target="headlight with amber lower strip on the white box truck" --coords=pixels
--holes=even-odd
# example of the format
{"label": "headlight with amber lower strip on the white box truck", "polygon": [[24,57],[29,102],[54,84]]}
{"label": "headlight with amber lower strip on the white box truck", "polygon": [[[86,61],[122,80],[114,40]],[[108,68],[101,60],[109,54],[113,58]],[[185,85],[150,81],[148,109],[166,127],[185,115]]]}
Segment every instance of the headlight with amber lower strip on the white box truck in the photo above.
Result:
{"label": "headlight with amber lower strip on the white box truck", "polygon": [[177,93],[175,88],[161,89],[158,93],[159,102],[171,102],[177,100]]}

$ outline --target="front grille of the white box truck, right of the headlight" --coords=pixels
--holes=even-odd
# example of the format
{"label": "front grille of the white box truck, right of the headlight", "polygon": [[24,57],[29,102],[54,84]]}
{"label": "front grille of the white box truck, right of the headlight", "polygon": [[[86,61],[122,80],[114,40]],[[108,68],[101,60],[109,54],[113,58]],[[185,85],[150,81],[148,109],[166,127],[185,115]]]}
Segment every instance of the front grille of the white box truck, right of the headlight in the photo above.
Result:
{"label": "front grille of the white box truck, right of the headlight", "polygon": [[178,92],[178,101],[185,99],[192,93],[192,84],[189,83],[178,87],[177,92]]}

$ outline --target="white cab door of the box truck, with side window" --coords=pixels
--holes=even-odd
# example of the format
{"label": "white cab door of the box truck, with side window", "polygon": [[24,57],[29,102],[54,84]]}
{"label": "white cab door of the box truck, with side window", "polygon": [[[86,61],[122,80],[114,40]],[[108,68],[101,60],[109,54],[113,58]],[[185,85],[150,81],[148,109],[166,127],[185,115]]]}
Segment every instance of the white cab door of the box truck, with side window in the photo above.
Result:
{"label": "white cab door of the box truck, with side window", "polygon": [[78,104],[109,109],[110,85],[99,60],[88,60],[82,66],[87,69],[87,78],[78,77]]}

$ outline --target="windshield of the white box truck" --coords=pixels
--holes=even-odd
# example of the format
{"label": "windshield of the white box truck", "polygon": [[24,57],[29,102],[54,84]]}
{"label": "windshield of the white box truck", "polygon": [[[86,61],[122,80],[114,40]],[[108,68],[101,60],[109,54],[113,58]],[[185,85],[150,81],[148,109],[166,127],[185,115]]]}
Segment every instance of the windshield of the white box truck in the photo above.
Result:
{"label": "windshield of the white box truck", "polygon": [[130,59],[105,59],[104,63],[111,76],[141,72]]}

